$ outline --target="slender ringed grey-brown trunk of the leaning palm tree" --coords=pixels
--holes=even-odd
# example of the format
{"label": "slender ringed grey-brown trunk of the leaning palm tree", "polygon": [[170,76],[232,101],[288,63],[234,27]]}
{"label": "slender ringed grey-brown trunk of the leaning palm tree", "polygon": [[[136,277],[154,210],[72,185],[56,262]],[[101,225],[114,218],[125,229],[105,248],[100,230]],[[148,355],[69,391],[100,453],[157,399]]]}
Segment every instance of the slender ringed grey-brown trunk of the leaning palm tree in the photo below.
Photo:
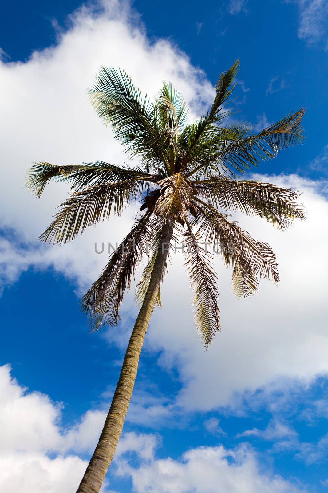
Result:
{"label": "slender ringed grey-brown trunk of the leaning palm tree", "polygon": [[98,493],[108,467],[112,462],[136,380],[139,357],[150,316],[156,303],[172,231],[173,221],[168,220],[163,227],[162,238],[150,276],[149,287],[132,330],[110,410],[96,449],[76,493]]}

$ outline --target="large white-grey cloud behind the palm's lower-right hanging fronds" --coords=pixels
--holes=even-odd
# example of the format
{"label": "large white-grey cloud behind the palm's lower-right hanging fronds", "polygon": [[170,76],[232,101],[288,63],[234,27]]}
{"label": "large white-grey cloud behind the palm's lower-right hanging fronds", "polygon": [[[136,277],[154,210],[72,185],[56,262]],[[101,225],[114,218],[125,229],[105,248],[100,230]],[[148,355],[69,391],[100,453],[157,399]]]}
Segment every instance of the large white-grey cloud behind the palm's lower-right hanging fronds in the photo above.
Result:
{"label": "large white-grey cloud behind the palm's lower-right hanging fronds", "polygon": [[[236,300],[231,272],[218,262],[221,332],[207,352],[193,325],[182,255],[172,256],[162,288],[163,309],[153,314],[146,344],[162,350],[163,368],[178,368],[182,389],[177,404],[189,410],[237,406],[238,396],[245,391],[252,400],[256,389],[274,382],[302,386],[328,373],[328,259],[324,254],[328,231],[322,227],[328,201],[321,194],[324,184],[298,176],[255,177],[300,188],[307,220],[281,233],[258,218],[242,218],[240,224],[253,237],[268,241],[276,252],[281,281],[279,286],[261,282],[256,296]],[[236,217],[241,219],[240,214]]]}

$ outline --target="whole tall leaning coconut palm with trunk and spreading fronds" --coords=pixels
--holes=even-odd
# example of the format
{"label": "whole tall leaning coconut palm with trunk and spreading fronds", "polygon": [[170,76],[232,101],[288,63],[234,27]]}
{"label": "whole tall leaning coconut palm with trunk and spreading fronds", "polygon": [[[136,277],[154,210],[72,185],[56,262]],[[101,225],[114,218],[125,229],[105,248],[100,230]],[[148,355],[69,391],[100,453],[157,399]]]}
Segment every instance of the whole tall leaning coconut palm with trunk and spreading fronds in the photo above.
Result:
{"label": "whole tall leaning coconut palm with trunk and spreading fronds", "polygon": [[72,194],[41,235],[43,242],[66,243],[90,225],[111,214],[119,215],[132,200],[142,202],[143,213],[137,215],[133,228],[82,298],[91,331],[117,324],[124,292],[142,259],[147,258],[137,284],[141,308],[79,493],[99,492],[113,459],[150,316],[154,306],[160,305],[170,242],[184,243],[185,268],[194,290],[195,323],[207,349],[220,330],[220,321],[212,254],[201,244],[219,245],[225,264],[232,268],[233,289],[246,297],[256,292],[258,278],[279,281],[277,262],[268,244],[254,240],[228,212],[255,214],[282,231],[293,219],[304,218],[298,192],[236,177],[260,160],[273,158],[280,149],[300,142],[304,112],[300,109],[289,114],[256,135],[244,123],[225,120],[238,69],[237,61],[220,75],[211,108],[191,121],[185,102],[170,82],[164,82],[152,103],[124,71],[103,67],[90,90],[91,104],[112,127],[128,156],[138,159],[138,166],[105,162],[55,166],[42,162],[30,168],[29,187],[37,197],[52,178],[71,184]]}

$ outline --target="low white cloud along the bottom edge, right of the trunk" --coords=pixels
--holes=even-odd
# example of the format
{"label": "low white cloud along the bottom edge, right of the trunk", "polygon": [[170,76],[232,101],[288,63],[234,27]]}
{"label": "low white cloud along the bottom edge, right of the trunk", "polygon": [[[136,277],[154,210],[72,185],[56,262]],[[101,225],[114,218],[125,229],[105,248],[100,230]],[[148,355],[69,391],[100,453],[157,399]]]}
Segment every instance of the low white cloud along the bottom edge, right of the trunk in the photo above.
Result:
{"label": "low white cloud along the bottom edge, right of the trunk", "polygon": [[234,450],[198,447],[172,458],[153,459],[133,468],[120,461],[119,475],[130,474],[137,493],[300,493],[304,490],[260,471],[254,452],[246,445]]}

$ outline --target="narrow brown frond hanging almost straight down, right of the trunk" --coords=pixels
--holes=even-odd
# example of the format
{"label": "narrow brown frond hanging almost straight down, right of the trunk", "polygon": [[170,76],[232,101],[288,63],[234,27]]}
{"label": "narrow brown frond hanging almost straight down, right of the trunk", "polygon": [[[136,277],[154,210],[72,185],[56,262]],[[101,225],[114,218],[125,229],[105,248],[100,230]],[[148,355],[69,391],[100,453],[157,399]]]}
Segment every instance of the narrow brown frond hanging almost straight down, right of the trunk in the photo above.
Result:
{"label": "narrow brown frond hanging almost straight down, right of the trunk", "polygon": [[219,308],[217,306],[217,276],[213,270],[212,255],[200,246],[201,239],[194,234],[187,222],[184,233],[184,267],[194,291],[195,324],[203,340],[205,349],[209,348],[216,332],[220,330]]}

